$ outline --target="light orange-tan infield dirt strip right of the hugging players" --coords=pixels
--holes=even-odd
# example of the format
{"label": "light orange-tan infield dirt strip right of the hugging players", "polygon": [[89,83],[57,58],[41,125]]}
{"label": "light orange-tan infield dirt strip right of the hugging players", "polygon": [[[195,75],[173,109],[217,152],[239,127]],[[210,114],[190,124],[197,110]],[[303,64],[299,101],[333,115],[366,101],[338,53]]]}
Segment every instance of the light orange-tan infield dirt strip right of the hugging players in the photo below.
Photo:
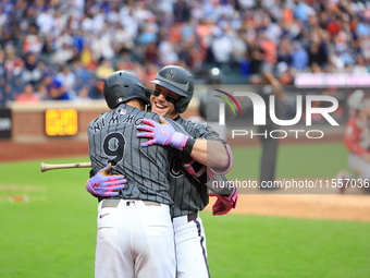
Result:
{"label": "light orange-tan infield dirt strip right of the hugging players", "polygon": [[[210,202],[213,204],[213,202]],[[211,209],[209,205],[207,210]],[[232,214],[370,221],[370,196],[361,194],[242,194]]]}

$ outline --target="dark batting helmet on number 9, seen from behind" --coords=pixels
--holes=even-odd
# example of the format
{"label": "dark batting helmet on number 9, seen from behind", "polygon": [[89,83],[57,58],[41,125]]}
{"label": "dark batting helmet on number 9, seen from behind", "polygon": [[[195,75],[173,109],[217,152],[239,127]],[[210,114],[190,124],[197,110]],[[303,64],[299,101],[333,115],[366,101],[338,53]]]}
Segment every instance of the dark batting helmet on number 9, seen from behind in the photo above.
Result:
{"label": "dark batting helmet on number 9, seen from behind", "polygon": [[133,98],[139,98],[147,105],[150,90],[145,87],[140,78],[128,71],[116,71],[104,82],[104,98],[110,109]]}

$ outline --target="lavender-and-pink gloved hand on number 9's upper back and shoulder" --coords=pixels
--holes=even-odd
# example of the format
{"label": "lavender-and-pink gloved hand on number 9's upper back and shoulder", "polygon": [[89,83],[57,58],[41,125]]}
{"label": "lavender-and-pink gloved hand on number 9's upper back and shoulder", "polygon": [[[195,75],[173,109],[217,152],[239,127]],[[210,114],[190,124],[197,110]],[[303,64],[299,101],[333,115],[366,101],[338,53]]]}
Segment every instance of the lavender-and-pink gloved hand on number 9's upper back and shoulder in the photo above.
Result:
{"label": "lavender-and-pink gloved hand on number 9's upper back and shoulder", "polygon": [[139,138],[151,138],[141,144],[143,147],[151,145],[171,146],[176,149],[183,150],[189,136],[183,133],[176,132],[175,129],[168,123],[162,117],[159,117],[158,123],[153,120],[143,119],[141,122],[147,125],[137,125],[136,129],[145,131],[137,133]]}

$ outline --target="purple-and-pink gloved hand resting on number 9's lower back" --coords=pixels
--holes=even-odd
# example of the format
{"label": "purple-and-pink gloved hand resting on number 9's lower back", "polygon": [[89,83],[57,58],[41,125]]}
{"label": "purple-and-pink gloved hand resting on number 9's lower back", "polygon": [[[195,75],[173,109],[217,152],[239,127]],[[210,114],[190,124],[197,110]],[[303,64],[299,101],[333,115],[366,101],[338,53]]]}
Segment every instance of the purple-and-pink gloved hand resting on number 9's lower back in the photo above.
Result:
{"label": "purple-and-pink gloved hand resting on number 9's lower back", "polygon": [[109,164],[86,182],[86,190],[96,197],[115,197],[125,188],[126,179],[122,174],[108,176],[112,166]]}

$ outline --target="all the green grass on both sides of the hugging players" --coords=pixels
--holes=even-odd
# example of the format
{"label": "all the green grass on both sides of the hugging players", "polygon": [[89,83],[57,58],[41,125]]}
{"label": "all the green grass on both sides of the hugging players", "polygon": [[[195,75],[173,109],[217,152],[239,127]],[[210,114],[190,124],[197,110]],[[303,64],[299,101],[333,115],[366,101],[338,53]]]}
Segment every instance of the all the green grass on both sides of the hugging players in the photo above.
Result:
{"label": "all the green grass on both sides of the hugging players", "polygon": [[[281,146],[279,176],[334,174],[346,166],[342,148],[340,144]],[[259,149],[234,153],[233,174],[257,177],[258,167],[248,164],[258,164]],[[250,158],[246,164],[240,162],[244,156]],[[87,160],[0,164],[1,278],[94,276],[97,202],[84,186],[88,169],[39,170],[41,161]],[[7,197],[12,195],[27,195],[30,202],[10,203]],[[45,200],[37,201],[40,196]],[[213,217],[206,211],[202,218],[213,278],[370,277],[370,222]]]}

